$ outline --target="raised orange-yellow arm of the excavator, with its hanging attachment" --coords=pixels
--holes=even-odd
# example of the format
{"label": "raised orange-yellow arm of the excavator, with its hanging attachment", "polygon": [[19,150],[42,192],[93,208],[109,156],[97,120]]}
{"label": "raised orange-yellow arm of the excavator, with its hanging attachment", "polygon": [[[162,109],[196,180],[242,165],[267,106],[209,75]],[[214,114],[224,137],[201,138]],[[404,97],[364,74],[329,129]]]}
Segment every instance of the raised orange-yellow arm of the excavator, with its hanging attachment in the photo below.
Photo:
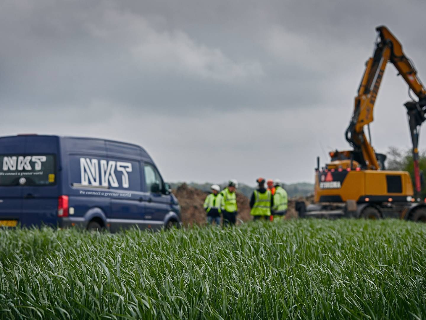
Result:
{"label": "raised orange-yellow arm of the excavator, with its hanging attachment", "polygon": [[[358,95],[355,97],[354,113],[346,129],[346,140],[354,147],[354,151],[362,155],[362,166],[366,169],[380,169],[376,154],[370,144],[371,141],[368,141],[364,133],[364,126],[373,121],[374,103],[383,79],[383,73],[387,63],[391,62],[418,98],[418,101],[409,101],[405,104],[413,140],[414,167],[416,167],[417,160],[417,172],[415,172],[417,189],[419,176],[417,142],[420,125],[425,120],[426,89],[417,77],[414,65],[404,54],[400,42],[385,26],[377,27],[376,30],[379,32],[380,41],[377,42],[373,56],[366,63],[366,70],[358,88]],[[418,179],[418,185],[420,186],[420,179]]]}

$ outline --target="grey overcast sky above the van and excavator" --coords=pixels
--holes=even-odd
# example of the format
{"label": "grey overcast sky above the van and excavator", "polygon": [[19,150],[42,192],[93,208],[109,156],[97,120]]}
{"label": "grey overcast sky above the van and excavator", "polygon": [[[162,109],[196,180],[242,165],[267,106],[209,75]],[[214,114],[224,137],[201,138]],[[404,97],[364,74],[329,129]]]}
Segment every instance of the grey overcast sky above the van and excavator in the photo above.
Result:
{"label": "grey overcast sky above the van and excavator", "polygon": [[[317,155],[348,148],[376,26],[426,82],[425,12],[424,0],[0,0],[0,135],[136,143],[168,181],[312,182]],[[389,65],[377,151],[409,148],[408,99]]]}

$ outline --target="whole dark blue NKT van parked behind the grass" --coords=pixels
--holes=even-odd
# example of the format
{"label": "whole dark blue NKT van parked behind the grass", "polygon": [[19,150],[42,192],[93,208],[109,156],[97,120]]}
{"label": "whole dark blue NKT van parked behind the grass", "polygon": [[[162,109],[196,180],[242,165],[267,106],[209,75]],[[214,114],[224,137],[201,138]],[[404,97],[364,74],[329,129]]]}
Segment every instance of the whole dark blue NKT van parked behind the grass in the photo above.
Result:
{"label": "whole dark blue NKT van parked behind the grass", "polygon": [[180,207],[138,145],[103,139],[0,137],[0,226],[117,231],[180,226]]}

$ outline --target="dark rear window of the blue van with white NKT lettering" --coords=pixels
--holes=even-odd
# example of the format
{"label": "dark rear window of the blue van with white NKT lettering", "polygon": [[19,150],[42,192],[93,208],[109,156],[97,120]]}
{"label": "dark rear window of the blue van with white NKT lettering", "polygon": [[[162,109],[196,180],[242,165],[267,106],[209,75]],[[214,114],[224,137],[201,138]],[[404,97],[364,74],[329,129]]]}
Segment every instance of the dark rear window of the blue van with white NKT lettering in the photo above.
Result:
{"label": "dark rear window of the blue van with white NKT lettering", "polygon": [[55,184],[55,155],[0,155],[0,186],[48,186]]}

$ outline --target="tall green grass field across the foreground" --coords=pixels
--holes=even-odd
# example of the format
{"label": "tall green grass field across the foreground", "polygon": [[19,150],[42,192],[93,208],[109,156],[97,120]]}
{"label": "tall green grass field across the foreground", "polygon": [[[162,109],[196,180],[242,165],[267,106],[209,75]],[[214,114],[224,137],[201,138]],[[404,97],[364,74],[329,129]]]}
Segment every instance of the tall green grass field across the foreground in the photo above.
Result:
{"label": "tall green grass field across the foreground", "polygon": [[421,319],[426,224],[0,231],[2,318]]}

